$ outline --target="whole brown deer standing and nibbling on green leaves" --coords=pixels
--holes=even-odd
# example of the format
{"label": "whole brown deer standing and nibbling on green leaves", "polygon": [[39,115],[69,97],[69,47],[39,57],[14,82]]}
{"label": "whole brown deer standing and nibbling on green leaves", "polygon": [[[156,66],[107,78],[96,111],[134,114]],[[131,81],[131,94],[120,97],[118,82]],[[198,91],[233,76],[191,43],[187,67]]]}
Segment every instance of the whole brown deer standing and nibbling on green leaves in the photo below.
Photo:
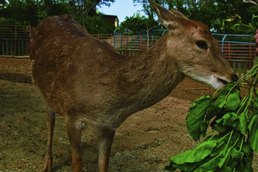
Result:
{"label": "whole brown deer standing and nibbling on green leaves", "polygon": [[80,172],[81,131],[98,137],[99,170],[107,172],[116,128],[165,98],[188,76],[215,89],[238,77],[209,28],[149,0],[168,33],[136,57],[97,40],[69,16],[44,19],[29,44],[32,78],[49,106],[45,172],[52,169],[55,113],[63,115]]}

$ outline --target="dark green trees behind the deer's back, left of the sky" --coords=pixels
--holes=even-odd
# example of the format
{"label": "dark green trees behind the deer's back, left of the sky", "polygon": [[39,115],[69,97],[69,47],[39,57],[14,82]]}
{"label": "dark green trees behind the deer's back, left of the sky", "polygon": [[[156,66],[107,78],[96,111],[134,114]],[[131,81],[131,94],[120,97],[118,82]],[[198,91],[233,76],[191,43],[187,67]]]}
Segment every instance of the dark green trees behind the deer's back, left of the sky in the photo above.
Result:
{"label": "dark green trees behind the deer's back, left of the sky", "polygon": [[96,14],[96,6],[110,6],[114,0],[0,0],[0,23],[35,27],[52,15],[70,14],[91,34],[110,34],[115,27]]}

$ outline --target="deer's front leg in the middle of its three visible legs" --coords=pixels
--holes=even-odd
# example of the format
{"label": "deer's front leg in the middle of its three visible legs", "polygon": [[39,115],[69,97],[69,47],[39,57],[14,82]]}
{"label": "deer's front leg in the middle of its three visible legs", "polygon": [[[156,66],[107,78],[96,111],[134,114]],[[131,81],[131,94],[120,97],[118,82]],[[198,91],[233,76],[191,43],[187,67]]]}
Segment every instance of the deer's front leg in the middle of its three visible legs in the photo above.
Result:
{"label": "deer's front leg in the middle of its three visible legs", "polygon": [[73,170],[74,172],[81,172],[83,167],[83,158],[81,155],[81,127],[75,126],[72,120],[67,119],[67,132],[73,153]]}

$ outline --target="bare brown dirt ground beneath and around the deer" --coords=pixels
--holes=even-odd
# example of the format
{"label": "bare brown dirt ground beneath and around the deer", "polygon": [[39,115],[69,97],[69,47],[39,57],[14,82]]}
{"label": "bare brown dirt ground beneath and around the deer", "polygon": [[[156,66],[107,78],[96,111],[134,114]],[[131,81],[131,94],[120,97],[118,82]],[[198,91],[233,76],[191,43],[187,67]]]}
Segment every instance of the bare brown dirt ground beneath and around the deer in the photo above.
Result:
{"label": "bare brown dirt ground beneath and around the deer", "polygon": [[[0,58],[0,172],[41,171],[46,155],[45,104],[31,83],[30,60]],[[213,89],[186,78],[161,102],[130,116],[116,131],[110,172],[162,172],[171,155],[194,148],[185,117],[191,102]],[[98,171],[96,137],[82,134],[84,171]],[[66,126],[56,116],[55,172],[72,172]],[[258,156],[253,161],[258,172]],[[165,172],[165,171],[164,171]]]}

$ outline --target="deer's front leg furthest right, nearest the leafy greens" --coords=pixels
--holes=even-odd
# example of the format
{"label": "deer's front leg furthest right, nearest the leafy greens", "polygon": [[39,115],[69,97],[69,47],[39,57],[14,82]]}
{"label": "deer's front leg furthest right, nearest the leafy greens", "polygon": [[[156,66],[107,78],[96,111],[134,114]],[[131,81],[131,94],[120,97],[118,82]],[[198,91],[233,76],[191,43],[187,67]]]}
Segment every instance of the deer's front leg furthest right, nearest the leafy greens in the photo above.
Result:
{"label": "deer's front leg furthest right, nearest the leafy greens", "polygon": [[114,139],[115,131],[116,130],[113,130],[105,136],[99,136],[98,137],[98,143],[99,143],[99,171],[100,172],[107,172],[109,157],[110,157],[110,151],[111,151],[111,146],[112,146],[112,142],[113,142],[113,139]]}

